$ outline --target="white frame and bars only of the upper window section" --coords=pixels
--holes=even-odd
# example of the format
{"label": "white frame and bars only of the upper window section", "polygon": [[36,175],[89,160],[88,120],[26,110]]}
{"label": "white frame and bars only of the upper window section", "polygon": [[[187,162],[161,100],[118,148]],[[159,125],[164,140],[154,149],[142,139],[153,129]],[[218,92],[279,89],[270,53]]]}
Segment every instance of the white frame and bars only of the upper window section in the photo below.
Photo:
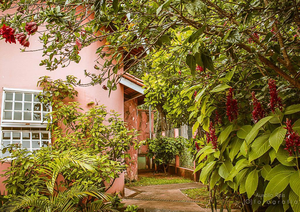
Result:
{"label": "white frame and bars only of the upper window section", "polygon": [[[31,89],[18,89],[18,88],[3,88],[3,94],[2,94],[2,103],[1,103],[1,126],[3,124],[7,125],[7,124],[21,124],[24,123],[26,125],[36,125],[38,124],[39,127],[41,126],[41,124],[47,125],[46,121],[39,121],[39,120],[4,120],[4,101],[5,101],[5,93],[9,93],[9,92],[21,92],[21,93],[28,93],[28,94],[40,94],[43,93],[42,90],[31,90]],[[25,101],[22,100],[22,102],[24,103]],[[34,102],[34,99],[33,101]],[[14,101],[12,101],[12,103],[14,103]],[[13,104],[13,108],[14,108],[14,104]],[[43,119],[43,103],[41,103],[41,119]],[[22,104],[22,114],[24,112],[24,106]],[[49,112],[52,112],[52,107],[49,107]],[[32,105],[32,113],[33,113],[33,105]],[[33,115],[33,114],[32,114]],[[13,117],[13,113],[12,113],[12,117]],[[23,115],[22,115],[22,119],[23,119]],[[32,126],[34,127],[34,126]]]}

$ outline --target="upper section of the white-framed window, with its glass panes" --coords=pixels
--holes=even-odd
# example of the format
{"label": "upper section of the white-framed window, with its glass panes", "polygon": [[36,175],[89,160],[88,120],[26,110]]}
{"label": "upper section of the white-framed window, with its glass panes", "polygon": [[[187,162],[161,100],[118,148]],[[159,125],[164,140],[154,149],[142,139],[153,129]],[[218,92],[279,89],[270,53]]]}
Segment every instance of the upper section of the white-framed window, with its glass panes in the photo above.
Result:
{"label": "upper section of the white-framed window, with its glass panes", "polygon": [[3,92],[1,122],[46,123],[50,104],[41,103],[39,91],[7,89]]}

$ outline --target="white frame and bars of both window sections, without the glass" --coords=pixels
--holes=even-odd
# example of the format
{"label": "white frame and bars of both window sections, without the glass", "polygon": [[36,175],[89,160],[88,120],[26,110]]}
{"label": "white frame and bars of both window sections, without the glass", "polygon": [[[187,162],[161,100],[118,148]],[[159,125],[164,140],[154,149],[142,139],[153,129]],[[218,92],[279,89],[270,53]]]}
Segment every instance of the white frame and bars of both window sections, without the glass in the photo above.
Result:
{"label": "white frame and bars of both window sections, without the glass", "polygon": [[[21,138],[19,139],[20,142],[22,143],[22,132],[35,132],[35,130],[2,130],[2,127],[30,127],[30,128],[38,128],[36,130],[36,132],[40,133],[40,148],[41,148],[41,142],[42,140],[46,140],[46,139],[42,139],[41,137],[41,133],[49,133],[49,143],[51,143],[51,132],[50,131],[44,131],[44,130],[40,130],[39,128],[45,128],[48,124],[47,121],[33,121],[33,120],[4,120],[4,101],[5,101],[5,93],[6,92],[21,92],[21,93],[29,93],[29,94],[43,94],[42,90],[33,90],[33,89],[20,89],[20,88],[3,88],[3,93],[2,93],[2,103],[1,103],[1,122],[0,122],[0,150],[2,151],[2,149],[4,148],[2,146],[2,134],[5,131],[10,131],[11,133],[13,132],[21,132],[20,136]],[[14,101],[12,101],[14,103]],[[24,103],[24,101],[22,100],[22,102]],[[34,102],[34,99],[33,101]],[[22,104],[23,106],[23,104]],[[33,105],[32,105],[33,107]],[[41,118],[43,117],[43,103],[41,103]],[[22,108],[22,113],[24,112],[24,107]],[[50,105],[49,107],[49,112],[52,112],[52,107]],[[48,112],[48,113],[49,113]],[[33,108],[32,108],[32,113],[33,113]],[[23,119],[23,115],[22,115],[22,119]],[[32,135],[32,134],[30,134]],[[12,143],[13,137],[11,134],[11,138],[10,138],[10,143]],[[30,148],[27,148],[29,151],[33,151],[33,150],[38,150],[40,148],[32,148],[32,136],[30,136],[30,139],[27,140],[30,141]],[[2,157],[2,153],[1,153],[1,157]],[[12,160],[13,158],[10,158],[10,160]],[[0,159],[1,160],[1,159]]]}

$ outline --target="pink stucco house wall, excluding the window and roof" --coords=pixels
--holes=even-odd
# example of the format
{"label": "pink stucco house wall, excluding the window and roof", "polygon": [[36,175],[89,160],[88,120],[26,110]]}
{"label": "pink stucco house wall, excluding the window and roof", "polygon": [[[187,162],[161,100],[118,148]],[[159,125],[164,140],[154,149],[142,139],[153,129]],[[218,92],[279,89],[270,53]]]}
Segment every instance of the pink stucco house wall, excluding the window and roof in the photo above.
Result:
{"label": "pink stucco house wall, excluding the window and roof", "polygon": [[[29,48],[26,50],[41,49],[42,45],[39,42],[38,36],[35,34],[30,37]],[[90,79],[85,78],[84,70],[88,72],[98,72],[94,69],[95,60],[97,55],[96,49],[103,45],[105,40],[101,42],[93,43],[91,46],[85,47],[79,52],[81,61],[76,64],[71,62],[68,67],[58,68],[55,71],[48,71],[44,66],[39,66],[42,59],[42,51],[34,52],[20,52],[20,45],[5,43],[4,40],[0,40],[0,100],[2,100],[3,87],[7,88],[23,88],[23,89],[41,89],[37,88],[38,78],[41,76],[51,76],[52,79],[65,79],[67,75],[76,76],[81,79],[81,83],[88,83]],[[99,60],[98,60],[99,61]],[[104,63],[104,61],[99,61]],[[120,70],[122,72],[122,70]],[[73,101],[81,103],[83,109],[89,109],[87,103],[91,101],[100,101],[100,104],[107,106],[107,110],[114,109],[123,118],[123,86],[117,85],[118,89],[112,91],[110,97],[108,97],[108,91],[102,89],[102,85],[88,86],[88,87],[76,87],[79,92],[78,97]],[[1,105],[0,105],[1,107]],[[0,171],[6,168],[7,165],[0,165]],[[3,179],[0,179],[2,182]],[[0,189],[4,189],[4,185],[0,185]],[[124,191],[124,173],[117,179],[110,189],[110,191],[123,192]]]}

